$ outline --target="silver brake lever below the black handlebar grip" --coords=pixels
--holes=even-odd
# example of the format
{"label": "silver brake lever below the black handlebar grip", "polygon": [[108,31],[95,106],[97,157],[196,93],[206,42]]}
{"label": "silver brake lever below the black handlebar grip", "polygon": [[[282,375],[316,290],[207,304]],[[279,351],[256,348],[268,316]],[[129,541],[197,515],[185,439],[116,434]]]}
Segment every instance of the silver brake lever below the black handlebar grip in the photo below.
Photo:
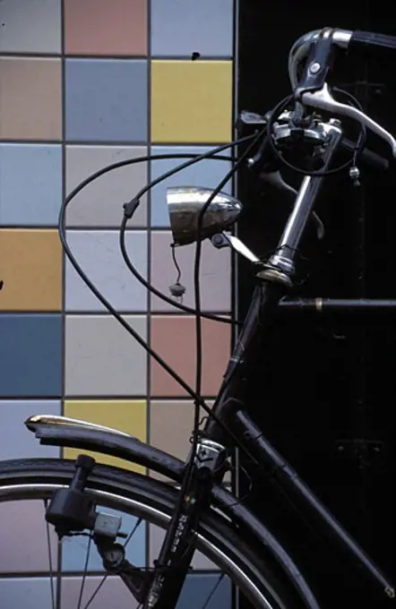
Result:
{"label": "silver brake lever below the black handlebar grip", "polygon": [[349,118],[355,119],[358,123],[364,124],[367,129],[370,129],[370,131],[378,135],[390,145],[392,155],[396,158],[396,140],[392,134],[387,132],[386,129],[383,129],[381,124],[375,123],[372,118],[366,116],[364,112],[361,112],[361,110],[358,110],[357,107],[348,106],[347,104],[341,104],[340,101],[336,101],[331,96],[327,82],[324,83],[322,89],[320,90],[314,92],[306,91],[302,93],[301,101],[306,106],[315,107],[340,116],[349,116]]}

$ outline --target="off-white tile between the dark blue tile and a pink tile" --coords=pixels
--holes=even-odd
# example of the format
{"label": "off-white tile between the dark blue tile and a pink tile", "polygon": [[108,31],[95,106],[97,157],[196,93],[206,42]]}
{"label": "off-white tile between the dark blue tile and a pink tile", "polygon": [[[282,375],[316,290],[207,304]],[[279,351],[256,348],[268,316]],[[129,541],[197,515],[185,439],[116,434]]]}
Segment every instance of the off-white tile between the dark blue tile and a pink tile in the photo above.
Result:
{"label": "off-white tile between the dark blue tile and a pink tile", "polygon": [[[125,316],[146,340],[145,316]],[[67,315],[65,392],[68,396],[143,396],[147,356],[110,315]]]}

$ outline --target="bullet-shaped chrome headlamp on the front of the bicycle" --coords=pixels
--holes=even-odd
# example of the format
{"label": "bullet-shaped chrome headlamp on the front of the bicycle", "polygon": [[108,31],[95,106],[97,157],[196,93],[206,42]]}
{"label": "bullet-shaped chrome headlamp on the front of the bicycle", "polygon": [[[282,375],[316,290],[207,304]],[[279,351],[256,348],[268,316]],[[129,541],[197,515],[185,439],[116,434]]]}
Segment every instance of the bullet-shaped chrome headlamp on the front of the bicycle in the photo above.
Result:
{"label": "bullet-shaped chrome headlamp on the front of the bicycle", "polygon": [[[176,245],[196,241],[198,218],[213,191],[200,186],[177,186],[167,189],[170,227]],[[242,203],[226,193],[218,193],[205,211],[202,239],[220,233],[237,221]]]}

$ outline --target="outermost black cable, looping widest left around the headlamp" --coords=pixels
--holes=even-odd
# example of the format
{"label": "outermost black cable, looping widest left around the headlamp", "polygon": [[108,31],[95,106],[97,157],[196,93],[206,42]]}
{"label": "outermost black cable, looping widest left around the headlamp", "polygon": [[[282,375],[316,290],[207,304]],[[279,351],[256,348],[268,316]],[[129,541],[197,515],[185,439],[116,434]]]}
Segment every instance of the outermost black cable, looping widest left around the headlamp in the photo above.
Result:
{"label": "outermost black cable, looping widest left around the headlamp", "polygon": [[[251,139],[251,137],[249,139]],[[228,148],[233,145],[234,145],[234,142],[228,144]],[[225,150],[225,147],[224,147],[224,150]],[[116,311],[116,309],[112,306],[112,304],[110,304],[108,302],[107,298],[105,298],[105,296],[103,296],[99,292],[99,289],[97,287],[95,287],[95,285],[87,277],[86,273],[82,270],[80,264],[77,262],[75,256],[73,255],[73,252],[70,249],[69,244],[67,243],[66,226],[65,226],[66,225],[66,221],[65,221],[66,208],[67,208],[67,205],[69,205],[69,203],[73,201],[73,199],[76,197],[76,195],[82,191],[82,188],[84,188],[85,186],[87,186],[88,184],[93,182],[99,176],[102,176],[102,175],[108,173],[108,171],[112,171],[113,169],[116,169],[118,167],[125,167],[126,165],[133,165],[134,163],[148,161],[151,159],[159,159],[159,158],[168,159],[169,156],[171,158],[174,158],[175,155],[149,155],[149,156],[140,157],[137,159],[127,159],[127,160],[123,160],[123,161],[118,161],[117,163],[112,163],[108,167],[102,167],[101,169],[99,169],[99,171],[97,171],[94,174],[92,174],[91,176],[85,178],[80,184],[78,184],[73,189],[72,193],[67,195],[67,197],[65,198],[65,201],[62,202],[61,209],[59,210],[59,220],[58,220],[59,238],[63,245],[65,254],[66,254],[67,258],[69,259],[69,262],[72,264],[74,270],[76,270],[76,272],[81,277],[82,281],[86,284],[86,286],[90,288],[90,291],[94,294],[94,296],[96,296],[98,298],[99,302],[101,304],[103,304],[103,306],[106,309],[108,309],[108,312],[113,315],[113,317],[116,319],[116,321],[118,323],[120,323],[129,334],[131,334],[133,339],[135,339],[136,342],[138,342],[139,345],[141,347],[143,347],[149,353],[149,355],[151,357],[153,357],[153,359],[155,359],[157,361],[157,363],[159,365],[161,365],[164,368],[164,370],[166,370],[168,372],[168,374],[175,379],[175,381],[178,384],[180,384],[180,386],[185,390],[185,392],[188,395],[191,396],[191,398],[200,402],[202,409],[205,410],[205,412],[207,412],[208,415],[211,416],[213,418],[213,420],[215,420],[216,423],[218,423],[226,433],[228,433],[228,435],[232,438],[232,440],[234,442],[236,442],[236,445],[245,452],[245,454],[249,457],[249,459],[254,459],[254,456],[250,453],[250,451],[247,450],[245,448],[245,446],[242,444],[242,442],[240,442],[238,440],[237,436],[234,433],[232,433],[230,429],[228,429],[228,425],[225,425],[222,421],[220,421],[220,419],[217,416],[213,415],[213,413],[211,412],[211,408],[205,403],[205,401],[200,396],[197,396],[195,394],[194,390],[162,359],[162,357],[159,356],[155,351],[153,351],[151,349],[151,347],[149,347],[144,342],[144,340],[141,338],[141,336],[138,334],[138,332],[136,332],[136,330],[133,330],[133,328],[127,322],[125,322],[124,317],[120,313],[118,313]],[[190,156],[191,155],[188,155],[188,157],[190,157]],[[202,155],[200,155],[200,157],[202,157]],[[185,158],[185,155],[183,155],[182,158]],[[205,158],[210,158],[210,153],[207,153]],[[190,164],[192,164],[192,163],[190,163]],[[123,223],[124,222],[126,223],[126,221],[127,221],[127,218],[124,218]],[[254,462],[256,462],[256,459],[254,459]]]}

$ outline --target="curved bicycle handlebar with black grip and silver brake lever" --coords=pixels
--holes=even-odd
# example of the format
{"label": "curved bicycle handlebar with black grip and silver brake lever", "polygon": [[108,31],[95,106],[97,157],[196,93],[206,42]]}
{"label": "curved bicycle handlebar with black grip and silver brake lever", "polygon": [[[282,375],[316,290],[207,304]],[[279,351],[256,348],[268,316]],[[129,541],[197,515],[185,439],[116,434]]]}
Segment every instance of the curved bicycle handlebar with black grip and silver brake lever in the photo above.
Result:
{"label": "curved bicycle handlebar with black grip and silver brake lever", "polygon": [[[326,76],[331,69],[334,47],[348,49],[352,44],[396,49],[396,38],[364,31],[324,28],[308,32],[295,42],[288,56],[288,74],[297,102],[332,113],[349,116],[387,142],[396,157],[396,139],[381,124],[357,107],[342,104],[332,95]],[[298,80],[300,64],[307,58],[303,78]]]}

